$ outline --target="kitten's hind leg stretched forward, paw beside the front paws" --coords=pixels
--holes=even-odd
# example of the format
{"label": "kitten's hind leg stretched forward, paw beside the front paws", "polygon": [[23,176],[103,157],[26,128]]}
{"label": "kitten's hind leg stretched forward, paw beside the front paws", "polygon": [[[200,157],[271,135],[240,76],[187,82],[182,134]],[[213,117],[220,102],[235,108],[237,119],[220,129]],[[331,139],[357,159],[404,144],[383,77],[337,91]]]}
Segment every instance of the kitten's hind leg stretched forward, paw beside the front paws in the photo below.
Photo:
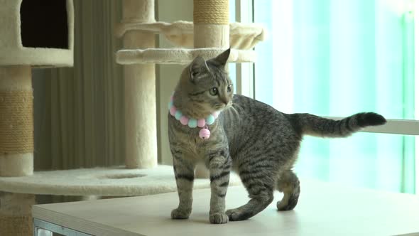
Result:
{"label": "kitten's hind leg stretched forward, paw beside the front paws", "polygon": [[239,208],[227,210],[226,214],[229,216],[229,220],[249,219],[272,203],[275,186],[272,176],[275,175],[266,169],[254,167],[256,168],[249,167],[239,172],[251,200]]}

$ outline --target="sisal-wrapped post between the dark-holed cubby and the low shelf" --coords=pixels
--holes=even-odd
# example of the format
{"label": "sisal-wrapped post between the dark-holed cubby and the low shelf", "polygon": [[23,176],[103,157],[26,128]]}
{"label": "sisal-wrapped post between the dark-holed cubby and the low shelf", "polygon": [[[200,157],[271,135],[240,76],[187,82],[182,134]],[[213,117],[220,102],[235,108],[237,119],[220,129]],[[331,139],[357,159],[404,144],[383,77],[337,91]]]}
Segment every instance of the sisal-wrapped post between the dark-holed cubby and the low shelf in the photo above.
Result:
{"label": "sisal-wrapped post between the dark-holed cubby and the low shelf", "polygon": [[0,67],[0,176],[33,173],[31,66]]}

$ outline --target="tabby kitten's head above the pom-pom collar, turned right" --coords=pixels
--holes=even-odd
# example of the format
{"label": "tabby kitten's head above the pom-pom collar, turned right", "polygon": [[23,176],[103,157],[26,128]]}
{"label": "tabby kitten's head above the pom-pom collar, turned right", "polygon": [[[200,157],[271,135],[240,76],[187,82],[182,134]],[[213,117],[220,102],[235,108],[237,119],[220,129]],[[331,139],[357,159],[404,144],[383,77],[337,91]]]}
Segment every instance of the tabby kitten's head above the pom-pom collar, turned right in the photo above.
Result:
{"label": "tabby kitten's head above the pom-pom collar, turned right", "polygon": [[230,49],[215,58],[205,60],[198,56],[180,77],[182,106],[212,113],[232,105],[233,85],[226,71]]}

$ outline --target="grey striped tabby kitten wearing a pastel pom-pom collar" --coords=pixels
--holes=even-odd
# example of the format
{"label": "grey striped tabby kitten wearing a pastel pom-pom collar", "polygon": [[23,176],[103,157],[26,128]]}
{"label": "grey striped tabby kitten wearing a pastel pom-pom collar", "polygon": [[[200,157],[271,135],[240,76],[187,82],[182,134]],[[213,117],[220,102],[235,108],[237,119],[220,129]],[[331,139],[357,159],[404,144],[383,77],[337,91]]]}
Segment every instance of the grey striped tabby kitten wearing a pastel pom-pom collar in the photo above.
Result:
{"label": "grey striped tabby kitten wearing a pastel pom-pom collar", "polygon": [[[278,210],[295,208],[300,181],[292,168],[303,135],[346,137],[362,127],[386,123],[372,112],[338,121],[284,114],[249,97],[233,95],[232,81],[224,70],[229,53],[226,50],[210,60],[195,58],[183,70],[170,102],[168,133],[179,195],[173,219],[189,218],[194,169],[199,162],[209,169],[209,222],[246,220],[272,202],[274,190],[283,192]],[[239,173],[251,199],[225,211],[232,170]]]}

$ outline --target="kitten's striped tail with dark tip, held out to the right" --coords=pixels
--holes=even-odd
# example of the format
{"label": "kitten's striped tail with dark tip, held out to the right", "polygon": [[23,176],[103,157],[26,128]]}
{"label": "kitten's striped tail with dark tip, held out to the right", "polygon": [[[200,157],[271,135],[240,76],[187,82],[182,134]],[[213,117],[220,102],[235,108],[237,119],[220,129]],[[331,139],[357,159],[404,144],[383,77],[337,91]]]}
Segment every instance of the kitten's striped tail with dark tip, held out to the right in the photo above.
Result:
{"label": "kitten's striped tail with dark tip, held out to the right", "polygon": [[347,137],[364,127],[387,122],[381,114],[374,112],[357,113],[340,120],[317,117],[308,113],[295,113],[290,114],[289,119],[300,134],[332,138]]}

